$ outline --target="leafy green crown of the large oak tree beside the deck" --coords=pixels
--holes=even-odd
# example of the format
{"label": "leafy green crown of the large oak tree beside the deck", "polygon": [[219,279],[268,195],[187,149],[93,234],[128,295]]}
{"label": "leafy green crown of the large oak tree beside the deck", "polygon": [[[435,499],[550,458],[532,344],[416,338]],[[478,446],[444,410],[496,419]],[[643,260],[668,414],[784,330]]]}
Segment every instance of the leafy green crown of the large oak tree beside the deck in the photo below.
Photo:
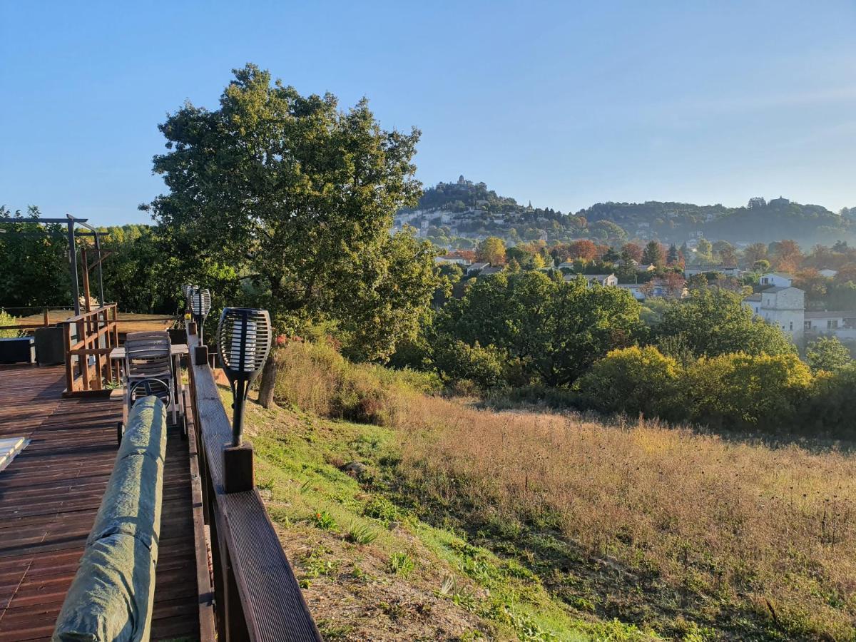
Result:
{"label": "leafy green crown of the large oak tree beside the deck", "polygon": [[160,125],[168,151],[154,171],[169,192],[144,209],[188,269],[229,268],[218,273],[279,330],[330,321],[354,352],[385,358],[437,283],[431,247],[389,235],[421,193],[419,131],[383,130],[365,99],[340,110],[252,64],[234,73],[219,109],[188,103]]}

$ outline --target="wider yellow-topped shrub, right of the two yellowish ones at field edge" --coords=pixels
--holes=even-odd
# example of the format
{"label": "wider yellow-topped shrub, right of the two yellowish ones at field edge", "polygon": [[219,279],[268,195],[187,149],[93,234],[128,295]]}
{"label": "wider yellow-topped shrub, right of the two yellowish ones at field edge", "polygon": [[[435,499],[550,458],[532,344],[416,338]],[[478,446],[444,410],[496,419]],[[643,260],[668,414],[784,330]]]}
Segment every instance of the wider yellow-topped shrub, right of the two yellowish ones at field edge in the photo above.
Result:
{"label": "wider yellow-topped shrub, right of the two yellowish ones at field edge", "polygon": [[788,431],[808,399],[811,372],[796,354],[723,354],[687,368],[690,419],[714,428]]}

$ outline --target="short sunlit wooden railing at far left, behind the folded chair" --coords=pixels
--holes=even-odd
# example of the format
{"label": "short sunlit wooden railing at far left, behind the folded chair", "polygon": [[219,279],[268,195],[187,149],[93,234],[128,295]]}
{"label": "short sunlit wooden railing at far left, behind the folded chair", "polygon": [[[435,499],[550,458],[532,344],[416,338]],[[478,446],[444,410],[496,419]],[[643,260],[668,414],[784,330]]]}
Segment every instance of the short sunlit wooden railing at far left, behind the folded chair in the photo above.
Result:
{"label": "short sunlit wooden railing at far left, behind the folded chair", "polygon": [[119,364],[110,350],[119,345],[116,304],[108,303],[62,322],[67,396],[101,394],[119,380]]}

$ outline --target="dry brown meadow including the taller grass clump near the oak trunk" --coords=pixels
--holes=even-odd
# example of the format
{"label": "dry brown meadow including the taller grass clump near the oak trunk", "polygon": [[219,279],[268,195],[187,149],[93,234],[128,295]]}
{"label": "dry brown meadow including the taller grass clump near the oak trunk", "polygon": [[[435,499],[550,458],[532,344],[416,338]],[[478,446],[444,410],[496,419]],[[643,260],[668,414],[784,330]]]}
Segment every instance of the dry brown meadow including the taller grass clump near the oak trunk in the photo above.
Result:
{"label": "dry brown meadow including the taller grass clump near the oak trunk", "polygon": [[280,360],[283,407],[331,430],[383,426],[363,490],[519,564],[568,618],[545,625],[552,639],[598,621],[640,639],[856,635],[856,458],[845,449],[478,409],[327,346],[295,343]]}

